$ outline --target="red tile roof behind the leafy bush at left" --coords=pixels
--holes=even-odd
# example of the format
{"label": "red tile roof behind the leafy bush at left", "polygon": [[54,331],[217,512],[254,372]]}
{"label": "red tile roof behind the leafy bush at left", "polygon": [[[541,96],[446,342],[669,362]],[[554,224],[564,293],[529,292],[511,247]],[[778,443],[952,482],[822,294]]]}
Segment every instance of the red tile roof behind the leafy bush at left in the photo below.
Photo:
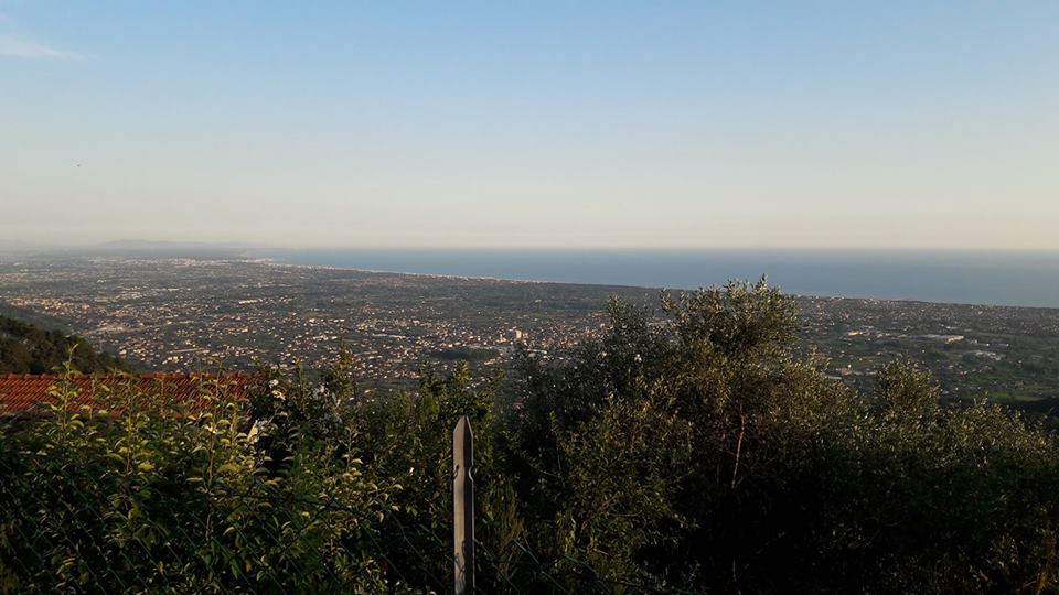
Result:
{"label": "red tile roof behind the leafy bush at left", "polygon": [[[69,378],[76,387],[74,404],[103,407],[99,399],[100,387],[120,394],[131,390],[137,394],[165,397],[175,402],[201,405],[206,394],[226,394],[235,399],[245,399],[250,388],[260,381],[257,375],[245,372],[228,374],[170,374],[153,372],[140,375],[76,375]],[[53,387],[61,386],[62,379],[52,375],[8,374],[0,376],[0,414],[29,411],[36,403],[56,402],[51,394]]]}

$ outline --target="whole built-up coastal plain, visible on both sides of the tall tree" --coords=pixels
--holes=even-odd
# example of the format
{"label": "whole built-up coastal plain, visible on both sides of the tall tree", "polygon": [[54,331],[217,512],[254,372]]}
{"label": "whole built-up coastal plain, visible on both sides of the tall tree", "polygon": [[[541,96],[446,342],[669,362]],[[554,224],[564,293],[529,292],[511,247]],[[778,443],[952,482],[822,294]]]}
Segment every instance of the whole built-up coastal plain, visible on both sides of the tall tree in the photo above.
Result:
{"label": "whole built-up coastal plain, visible on both sides of the tall tree", "polygon": [[[86,337],[139,369],[315,366],[342,349],[366,386],[410,386],[422,365],[507,369],[596,335],[611,298],[656,315],[660,290],[293,267],[237,258],[0,258],[0,309]],[[1059,399],[1059,310],[799,299],[806,348],[870,389],[898,357],[954,399]],[[371,388],[368,388],[371,390]]]}

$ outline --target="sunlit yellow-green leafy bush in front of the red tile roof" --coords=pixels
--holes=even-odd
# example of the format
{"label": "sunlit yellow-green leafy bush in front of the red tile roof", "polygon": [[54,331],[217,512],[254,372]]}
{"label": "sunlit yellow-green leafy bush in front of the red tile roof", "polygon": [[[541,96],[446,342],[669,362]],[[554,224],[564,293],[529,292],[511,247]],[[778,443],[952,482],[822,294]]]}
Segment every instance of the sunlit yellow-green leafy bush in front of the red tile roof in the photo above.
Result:
{"label": "sunlit yellow-green leafy bush in front of the red tile roof", "polygon": [[[201,410],[120,385],[98,388],[105,409],[75,394],[58,382],[0,443],[0,592],[387,587],[362,543],[396,488],[365,475],[350,435],[249,425],[221,387]],[[265,436],[282,459],[260,447]]]}

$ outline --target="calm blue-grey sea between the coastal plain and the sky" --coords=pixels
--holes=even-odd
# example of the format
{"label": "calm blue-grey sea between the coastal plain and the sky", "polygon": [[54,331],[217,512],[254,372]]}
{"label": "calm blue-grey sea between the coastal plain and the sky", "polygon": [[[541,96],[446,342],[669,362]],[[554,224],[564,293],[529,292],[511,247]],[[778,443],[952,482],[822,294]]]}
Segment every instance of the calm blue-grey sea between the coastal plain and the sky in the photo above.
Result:
{"label": "calm blue-grey sea between the coastal plain and the sky", "polygon": [[768,274],[783,290],[1059,307],[1059,252],[911,250],[272,250],[289,264],[691,289]]}

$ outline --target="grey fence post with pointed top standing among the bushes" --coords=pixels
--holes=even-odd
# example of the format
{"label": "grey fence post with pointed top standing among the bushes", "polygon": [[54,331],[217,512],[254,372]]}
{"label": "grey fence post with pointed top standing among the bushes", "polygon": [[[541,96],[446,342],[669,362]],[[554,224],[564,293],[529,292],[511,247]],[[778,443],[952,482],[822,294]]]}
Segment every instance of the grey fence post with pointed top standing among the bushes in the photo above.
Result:
{"label": "grey fence post with pointed top standing among the bushes", "polygon": [[474,435],[467,415],[452,431],[452,538],[456,595],[474,593]]}

